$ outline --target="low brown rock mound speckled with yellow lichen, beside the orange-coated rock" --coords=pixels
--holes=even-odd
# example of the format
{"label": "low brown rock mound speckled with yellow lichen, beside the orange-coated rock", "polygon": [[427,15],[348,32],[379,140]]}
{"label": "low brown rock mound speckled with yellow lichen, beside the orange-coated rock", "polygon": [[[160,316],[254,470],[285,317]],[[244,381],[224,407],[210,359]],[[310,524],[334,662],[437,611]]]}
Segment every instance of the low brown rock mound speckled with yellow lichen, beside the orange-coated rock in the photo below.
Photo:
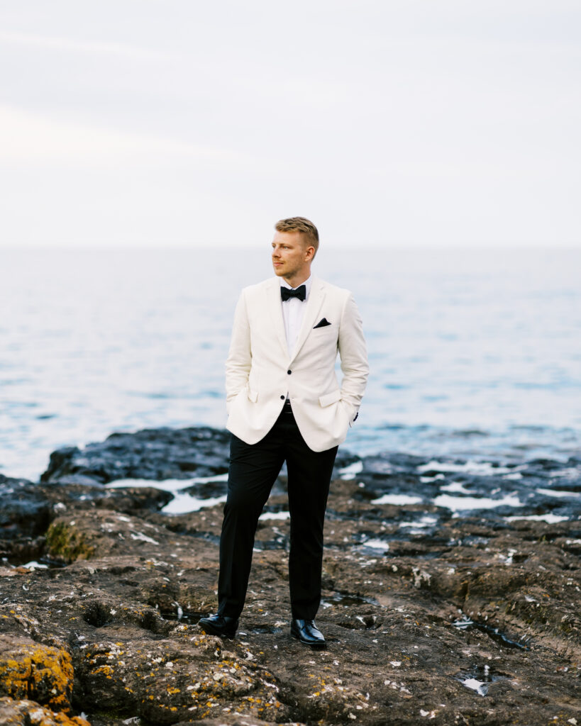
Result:
{"label": "low brown rock mound speckled with yellow lichen, beside the orange-coated rock", "polygon": [[224,650],[219,639],[186,625],[172,634],[131,640],[118,632],[115,643],[89,645],[78,666],[84,702],[100,709],[123,703],[128,714],[137,711],[153,723],[198,720],[222,711],[224,703],[234,711],[261,708],[284,717],[275,677],[235,652],[239,648]]}

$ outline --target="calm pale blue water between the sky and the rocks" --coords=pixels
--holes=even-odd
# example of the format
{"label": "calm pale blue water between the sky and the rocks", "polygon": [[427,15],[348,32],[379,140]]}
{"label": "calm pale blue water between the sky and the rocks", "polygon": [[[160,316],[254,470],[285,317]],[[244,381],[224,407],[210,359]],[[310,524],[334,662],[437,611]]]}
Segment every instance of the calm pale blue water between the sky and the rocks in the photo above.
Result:
{"label": "calm pale blue water between the sky and the rocks", "polygon": [[[262,250],[0,250],[0,473],[113,431],[222,428],[224,359]],[[581,250],[331,250],[370,382],[344,446],[566,460],[581,449]]]}

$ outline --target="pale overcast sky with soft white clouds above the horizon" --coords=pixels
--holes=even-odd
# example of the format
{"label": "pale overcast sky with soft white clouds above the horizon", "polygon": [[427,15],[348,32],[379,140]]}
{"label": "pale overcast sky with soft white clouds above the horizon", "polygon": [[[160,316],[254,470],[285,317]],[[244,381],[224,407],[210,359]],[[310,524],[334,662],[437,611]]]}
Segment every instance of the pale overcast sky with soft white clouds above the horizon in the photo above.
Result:
{"label": "pale overcast sky with soft white clouds above the horizon", "polygon": [[578,0],[0,0],[0,245],[581,246]]}

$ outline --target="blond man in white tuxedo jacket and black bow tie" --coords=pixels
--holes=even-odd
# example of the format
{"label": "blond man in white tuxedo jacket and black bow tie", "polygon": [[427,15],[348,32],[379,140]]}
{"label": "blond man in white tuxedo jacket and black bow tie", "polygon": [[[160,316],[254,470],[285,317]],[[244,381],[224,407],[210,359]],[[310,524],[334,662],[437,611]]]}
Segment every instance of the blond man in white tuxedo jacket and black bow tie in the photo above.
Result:
{"label": "blond man in white tuxedo jacket and black bow tie", "polygon": [[272,241],[277,277],[245,287],[236,307],[226,362],[232,439],[219,604],[216,615],[200,620],[212,635],[235,635],[256,525],[286,461],[290,634],[313,648],[325,648],[325,637],[314,624],[325,508],[338,444],[357,418],[369,369],[352,294],[311,274],[318,247],[317,228],[308,219],[278,221]]}

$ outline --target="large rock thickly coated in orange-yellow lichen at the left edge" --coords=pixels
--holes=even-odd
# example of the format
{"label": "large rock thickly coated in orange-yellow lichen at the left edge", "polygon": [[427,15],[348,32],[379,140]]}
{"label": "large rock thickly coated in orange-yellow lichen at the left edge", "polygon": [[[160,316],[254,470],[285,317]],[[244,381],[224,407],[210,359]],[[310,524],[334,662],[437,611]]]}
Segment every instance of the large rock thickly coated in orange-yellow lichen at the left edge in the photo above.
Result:
{"label": "large rock thickly coated in orange-yellow lichen at the left edge", "polygon": [[70,711],[73,664],[66,650],[5,635],[0,649],[0,695],[28,698]]}

